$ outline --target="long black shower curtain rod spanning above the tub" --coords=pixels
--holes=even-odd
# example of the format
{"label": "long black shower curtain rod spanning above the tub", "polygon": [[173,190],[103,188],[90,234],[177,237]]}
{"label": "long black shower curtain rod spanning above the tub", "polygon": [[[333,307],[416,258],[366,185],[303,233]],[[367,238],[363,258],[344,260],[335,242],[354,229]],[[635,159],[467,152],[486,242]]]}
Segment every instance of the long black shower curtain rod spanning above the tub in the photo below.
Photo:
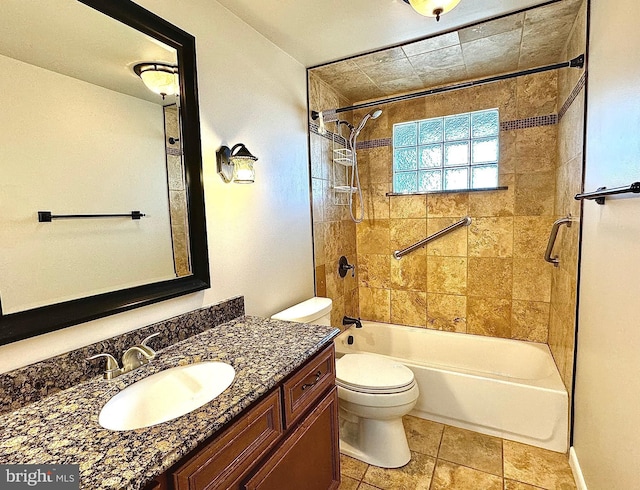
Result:
{"label": "long black shower curtain rod spanning above the tub", "polygon": [[[474,87],[476,85],[484,85],[485,83],[499,82],[500,80],[508,80],[510,78],[521,77],[524,75],[533,75],[534,73],[541,73],[544,71],[557,70],[559,68],[582,68],[584,66],[584,54],[577,56],[569,61],[563,61],[561,63],[554,63],[553,65],[540,66],[538,68],[530,68],[528,70],[521,70],[512,73],[505,73],[503,75],[497,75],[495,77],[481,78],[479,80],[472,80],[470,82],[463,82],[454,85],[448,85],[445,87],[437,87],[429,90],[423,90],[422,92],[414,92],[412,94],[398,95],[395,97],[388,97],[386,99],[373,100],[370,102],[364,102],[363,104],[356,104],[349,107],[340,107],[339,109],[333,109],[328,111],[322,111],[323,116],[328,114],[337,114],[340,112],[353,111],[357,109],[367,109],[380,104],[389,104],[391,102],[400,102],[403,100],[416,99],[418,97],[424,97],[425,95],[439,94],[442,92],[449,92],[451,90],[459,90],[462,88]],[[318,119],[320,113],[318,111],[311,111],[311,119],[314,121]],[[326,119],[325,119],[326,120]]]}

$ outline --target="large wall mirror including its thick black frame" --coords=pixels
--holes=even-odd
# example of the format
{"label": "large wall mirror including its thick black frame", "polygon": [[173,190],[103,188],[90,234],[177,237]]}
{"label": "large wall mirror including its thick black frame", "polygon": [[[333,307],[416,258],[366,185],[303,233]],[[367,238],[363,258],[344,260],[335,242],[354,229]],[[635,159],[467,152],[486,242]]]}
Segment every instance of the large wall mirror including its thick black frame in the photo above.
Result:
{"label": "large wall mirror including its thick black frame", "polygon": [[29,4],[0,20],[0,344],[210,285],[195,39],[129,0]]}

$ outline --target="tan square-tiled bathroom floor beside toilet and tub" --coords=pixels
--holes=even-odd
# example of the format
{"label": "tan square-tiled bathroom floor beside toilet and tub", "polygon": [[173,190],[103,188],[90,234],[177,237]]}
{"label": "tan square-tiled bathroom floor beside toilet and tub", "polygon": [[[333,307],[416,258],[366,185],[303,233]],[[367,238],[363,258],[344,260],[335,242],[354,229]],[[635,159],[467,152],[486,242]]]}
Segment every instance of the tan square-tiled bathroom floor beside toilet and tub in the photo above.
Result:
{"label": "tan square-tiled bathroom floor beside toilet and tub", "polygon": [[407,416],[411,461],[393,470],[341,455],[339,490],[574,490],[564,454]]}

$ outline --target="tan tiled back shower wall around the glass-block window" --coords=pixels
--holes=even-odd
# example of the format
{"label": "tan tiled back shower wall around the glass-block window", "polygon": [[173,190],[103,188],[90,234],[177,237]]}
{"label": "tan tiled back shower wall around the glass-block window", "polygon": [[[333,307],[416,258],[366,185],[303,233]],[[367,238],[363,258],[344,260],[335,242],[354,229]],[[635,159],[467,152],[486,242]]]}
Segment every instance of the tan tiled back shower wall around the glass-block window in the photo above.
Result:
{"label": "tan tiled back shower wall around the glass-block window", "polygon": [[[501,122],[556,113],[547,72],[383,107],[361,141],[396,122],[498,107]],[[355,114],[356,120],[362,114]],[[555,217],[557,126],[500,132],[508,190],[393,196],[390,146],[359,151],[367,220],[357,228],[365,319],[547,342],[552,267],[542,259]],[[473,222],[400,261],[391,253],[469,215]]]}

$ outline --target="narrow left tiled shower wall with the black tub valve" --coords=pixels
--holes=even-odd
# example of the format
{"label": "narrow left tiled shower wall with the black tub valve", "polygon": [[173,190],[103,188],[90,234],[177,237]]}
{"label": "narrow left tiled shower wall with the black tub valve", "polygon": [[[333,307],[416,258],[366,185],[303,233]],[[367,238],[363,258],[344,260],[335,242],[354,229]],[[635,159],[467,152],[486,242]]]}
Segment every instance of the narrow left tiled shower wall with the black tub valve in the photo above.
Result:
{"label": "narrow left tiled shower wall with the black tub valve", "polygon": [[[309,75],[310,110],[321,111],[348,105],[349,101],[327,84],[313,74]],[[351,120],[349,114],[340,117]],[[343,134],[346,135],[346,126],[343,128]],[[330,133],[325,136],[317,132],[310,134],[315,281],[316,295],[333,300],[331,324],[340,327],[345,315],[359,315],[356,224],[351,221],[346,206],[335,204],[330,185],[333,152],[330,136],[335,131],[335,124],[327,124],[327,129]],[[338,197],[341,199],[339,202],[343,202],[345,196]],[[338,260],[342,255],[349,264],[356,266],[356,277],[352,277],[351,272],[345,278],[338,275]]]}

